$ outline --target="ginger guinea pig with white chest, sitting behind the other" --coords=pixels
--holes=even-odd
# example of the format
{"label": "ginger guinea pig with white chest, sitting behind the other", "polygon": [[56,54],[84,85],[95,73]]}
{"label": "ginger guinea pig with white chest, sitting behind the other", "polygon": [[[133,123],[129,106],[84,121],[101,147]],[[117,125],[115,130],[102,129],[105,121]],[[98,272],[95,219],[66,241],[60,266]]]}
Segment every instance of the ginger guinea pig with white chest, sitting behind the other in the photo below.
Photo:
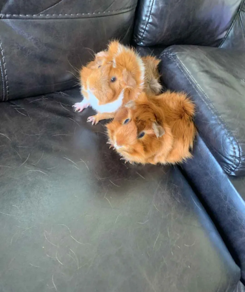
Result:
{"label": "ginger guinea pig with white chest, sitting behind the other", "polygon": [[96,54],[95,59],[82,68],[80,81],[84,99],[74,105],[75,110],[91,106],[98,113],[89,117],[88,122],[97,124],[113,118],[123,104],[137,99],[144,89],[149,92],[152,87],[152,94],[160,92],[158,63],[155,57],[142,59],[118,41],[110,42],[107,51]]}

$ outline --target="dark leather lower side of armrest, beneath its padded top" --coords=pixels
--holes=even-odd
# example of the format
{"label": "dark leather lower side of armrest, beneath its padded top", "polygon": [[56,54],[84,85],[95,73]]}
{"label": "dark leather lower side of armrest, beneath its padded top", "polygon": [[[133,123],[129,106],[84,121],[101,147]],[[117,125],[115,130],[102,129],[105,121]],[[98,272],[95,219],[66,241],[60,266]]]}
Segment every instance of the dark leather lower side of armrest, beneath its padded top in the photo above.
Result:
{"label": "dark leather lower side of armrest, beneath its padded top", "polygon": [[200,136],[193,159],[182,168],[241,267],[245,283],[245,178],[228,177]]}

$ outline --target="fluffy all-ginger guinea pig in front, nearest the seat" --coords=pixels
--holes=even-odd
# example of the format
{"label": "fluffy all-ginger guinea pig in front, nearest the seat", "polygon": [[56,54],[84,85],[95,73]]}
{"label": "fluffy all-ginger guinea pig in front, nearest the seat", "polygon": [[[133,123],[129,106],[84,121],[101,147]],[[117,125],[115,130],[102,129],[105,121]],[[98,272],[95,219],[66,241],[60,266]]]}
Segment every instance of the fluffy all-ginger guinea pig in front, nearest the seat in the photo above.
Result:
{"label": "fluffy all-ginger guinea pig in front, nearest the seat", "polygon": [[191,158],[196,134],[194,105],[184,93],[167,91],[127,103],[106,125],[111,144],[130,163],[176,164]]}

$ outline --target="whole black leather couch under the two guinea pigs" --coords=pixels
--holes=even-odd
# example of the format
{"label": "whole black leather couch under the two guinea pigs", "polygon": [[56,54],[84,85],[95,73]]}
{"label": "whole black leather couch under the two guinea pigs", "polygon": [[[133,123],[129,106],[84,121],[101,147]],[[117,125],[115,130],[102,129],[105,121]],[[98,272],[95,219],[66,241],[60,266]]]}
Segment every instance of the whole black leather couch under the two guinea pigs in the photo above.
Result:
{"label": "whole black leather couch under the two guinea pigs", "polygon": [[[0,7],[0,292],[244,292],[244,1]],[[123,164],[73,112],[111,38],[195,101],[186,164]]]}

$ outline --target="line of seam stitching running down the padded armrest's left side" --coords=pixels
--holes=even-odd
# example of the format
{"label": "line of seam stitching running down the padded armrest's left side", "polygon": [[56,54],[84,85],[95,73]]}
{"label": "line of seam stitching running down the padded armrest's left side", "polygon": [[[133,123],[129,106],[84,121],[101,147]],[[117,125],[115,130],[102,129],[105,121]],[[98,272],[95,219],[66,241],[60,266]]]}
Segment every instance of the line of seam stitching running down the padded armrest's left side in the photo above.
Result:
{"label": "line of seam stitching running down the padded armrest's left side", "polygon": [[[170,56],[170,58],[174,59],[174,58],[173,58],[173,55],[174,55],[174,54],[172,54],[172,55]],[[166,56],[168,57],[168,55],[166,55]],[[188,73],[189,76],[192,78],[192,76],[190,75],[189,71],[186,69],[186,67],[183,65],[183,63],[177,58],[176,55],[175,55],[175,58],[176,58],[176,59],[178,60],[178,62],[182,65],[182,67],[185,69],[186,73]],[[231,138],[230,138],[230,136],[229,136],[229,134],[228,134],[228,132],[227,132],[227,129],[224,127],[224,125],[226,125],[227,128],[228,128],[228,126],[227,126],[227,124],[225,123],[225,121],[222,119],[222,117],[219,115],[218,110],[215,109],[215,107],[212,105],[213,108],[216,110],[216,113],[214,113],[214,111],[211,109],[211,107],[210,107],[210,105],[207,103],[207,101],[202,97],[202,95],[201,95],[201,94],[197,91],[197,89],[194,87],[193,83],[196,84],[196,86],[200,89],[200,91],[202,91],[202,89],[201,89],[200,86],[197,84],[197,82],[192,78],[192,80],[193,80],[193,83],[192,83],[191,80],[189,79],[189,77],[187,76],[187,74],[186,74],[186,73],[182,70],[182,68],[179,66],[179,64],[176,63],[176,65],[178,66],[178,68],[180,69],[180,71],[186,76],[187,80],[188,80],[189,83],[191,84],[191,86],[192,86],[192,88],[194,89],[194,91],[196,91],[196,93],[199,95],[199,97],[202,99],[202,101],[204,101],[204,103],[205,103],[205,104],[207,105],[207,107],[211,110],[211,112],[212,112],[213,114],[217,115],[216,120],[218,121],[218,123],[221,125],[221,127],[222,127],[222,128],[225,130],[225,132],[226,132],[227,138],[229,139],[229,141],[230,141],[230,143],[231,143],[231,145],[232,145],[232,148],[233,148],[233,155],[234,155],[234,159],[233,159],[232,165],[229,166],[228,171],[227,171],[227,173],[230,174],[230,173],[231,173],[231,168],[235,166],[234,164],[235,164],[235,161],[236,161],[236,158],[237,158],[237,157],[236,157],[235,146],[234,146],[234,144],[233,144],[233,142],[232,142],[232,140],[231,140]],[[203,94],[206,96],[206,98],[210,101],[210,99],[209,99],[208,96],[205,94],[205,92],[202,91],[202,93],[203,93]],[[210,101],[210,104],[212,104],[211,101]],[[224,125],[221,123],[221,121],[219,121],[218,116],[220,117],[220,119],[222,119]],[[236,140],[236,138],[235,138],[234,136],[233,136],[233,138],[235,139],[235,141],[236,141],[236,143],[237,143],[237,145],[238,145],[238,148],[239,148],[239,157],[238,157],[239,162],[238,162],[238,165],[235,166],[235,168],[234,168],[234,170],[233,170],[233,172],[234,172],[234,171],[238,168],[238,166],[240,165],[240,162],[241,162],[241,155],[240,155],[240,146],[239,146],[239,143],[237,142],[237,140]]]}

